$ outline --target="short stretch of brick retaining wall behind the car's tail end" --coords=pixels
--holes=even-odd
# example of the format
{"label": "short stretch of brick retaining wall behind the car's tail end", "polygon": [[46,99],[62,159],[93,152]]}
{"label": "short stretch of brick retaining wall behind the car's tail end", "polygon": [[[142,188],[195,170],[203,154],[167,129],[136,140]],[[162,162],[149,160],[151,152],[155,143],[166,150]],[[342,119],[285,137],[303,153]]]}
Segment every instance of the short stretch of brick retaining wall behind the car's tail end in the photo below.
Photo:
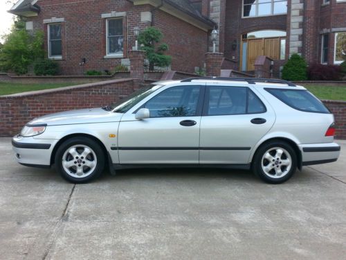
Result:
{"label": "short stretch of brick retaining wall behind the car's tail end", "polygon": [[334,114],[336,139],[346,139],[346,101],[323,101]]}

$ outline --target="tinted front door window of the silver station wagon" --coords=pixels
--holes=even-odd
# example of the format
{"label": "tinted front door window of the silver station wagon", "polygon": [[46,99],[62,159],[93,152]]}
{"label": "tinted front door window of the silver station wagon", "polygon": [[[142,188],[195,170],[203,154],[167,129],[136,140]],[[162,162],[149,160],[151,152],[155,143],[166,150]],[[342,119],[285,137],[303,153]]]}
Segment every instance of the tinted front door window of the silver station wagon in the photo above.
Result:
{"label": "tinted front door window of the silver station wagon", "polygon": [[194,116],[199,99],[199,86],[171,87],[145,104],[150,117]]}

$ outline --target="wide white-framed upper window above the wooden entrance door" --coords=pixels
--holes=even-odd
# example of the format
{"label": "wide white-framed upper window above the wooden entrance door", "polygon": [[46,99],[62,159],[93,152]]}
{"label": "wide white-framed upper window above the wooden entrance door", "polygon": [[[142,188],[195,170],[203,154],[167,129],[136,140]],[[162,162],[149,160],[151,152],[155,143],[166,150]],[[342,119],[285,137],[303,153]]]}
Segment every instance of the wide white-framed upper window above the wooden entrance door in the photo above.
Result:
{"label": "wide white-framed upper window above the wooden entrance door", "polygon": [[287,1],[243,0],[243,17],[283,15],[287,13]]}

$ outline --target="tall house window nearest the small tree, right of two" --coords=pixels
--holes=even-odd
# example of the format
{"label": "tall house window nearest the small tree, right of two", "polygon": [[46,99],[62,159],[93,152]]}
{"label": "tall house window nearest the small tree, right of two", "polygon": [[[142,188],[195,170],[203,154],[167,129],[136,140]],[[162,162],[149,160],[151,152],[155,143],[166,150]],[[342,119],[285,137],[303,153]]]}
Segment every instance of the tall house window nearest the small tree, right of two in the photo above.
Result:
{"label": "tall house window nearest the small tree, right of two", "polygon": [[107,19],[107,55],[122,55],[124,52],[124,35],[122,19]]}

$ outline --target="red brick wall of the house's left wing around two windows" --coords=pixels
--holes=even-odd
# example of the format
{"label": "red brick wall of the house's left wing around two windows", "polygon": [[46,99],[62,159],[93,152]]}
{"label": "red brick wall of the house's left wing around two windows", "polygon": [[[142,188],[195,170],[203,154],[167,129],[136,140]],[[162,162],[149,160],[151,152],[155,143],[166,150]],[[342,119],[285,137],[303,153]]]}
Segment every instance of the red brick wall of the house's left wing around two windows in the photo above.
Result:
{"label": "red brick wall of the house's left wing around two windows", "polygon": [[[80,75],[88,70],[111,70],[121,63],[121,58],[104,58],[106,55],[106,19],[102,13],[127,12],[123,18],[124,58],[134,46],[134,26],[141,30],[150,26],[150,22],[140,21],[140,12],[152,10],[152,6],[134,6],[130,1],[93,1],[93,0],[39,0],[41,8],[34,21],[35,30],[45,32],[47,50],[47,24],[44,19],[64,18],[62,23],[62,60],[58,61],[64,75]],[[155,16],[155,17],[154,17]],[[153,21],[165,34],[165,42],[170,45],[172,69],[193,72],[201,67],[203,55],[207,50],[207,33],[166,12],[156,10]],[[173,26],[174,25],[174,26]],[[191,51],[193,50],[193,51]],[[82,58],[86,63],[80,66]]]}

